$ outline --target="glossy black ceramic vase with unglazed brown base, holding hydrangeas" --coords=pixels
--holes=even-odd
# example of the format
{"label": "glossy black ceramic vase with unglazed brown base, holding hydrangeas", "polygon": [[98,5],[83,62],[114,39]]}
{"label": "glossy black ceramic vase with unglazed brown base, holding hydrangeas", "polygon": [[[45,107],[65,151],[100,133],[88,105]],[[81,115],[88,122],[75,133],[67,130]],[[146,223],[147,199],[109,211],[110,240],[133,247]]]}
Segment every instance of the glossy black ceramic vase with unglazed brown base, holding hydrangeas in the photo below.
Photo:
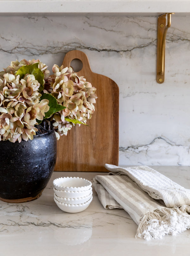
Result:
{"label": "glossy black ceramic vase with unglazed brown base, holding hydrangeas", "polygon": [[0,199],[10,203],[40,197],[56,163],[57,141],[47,121],[37,125],[33,140],[0,141]]}

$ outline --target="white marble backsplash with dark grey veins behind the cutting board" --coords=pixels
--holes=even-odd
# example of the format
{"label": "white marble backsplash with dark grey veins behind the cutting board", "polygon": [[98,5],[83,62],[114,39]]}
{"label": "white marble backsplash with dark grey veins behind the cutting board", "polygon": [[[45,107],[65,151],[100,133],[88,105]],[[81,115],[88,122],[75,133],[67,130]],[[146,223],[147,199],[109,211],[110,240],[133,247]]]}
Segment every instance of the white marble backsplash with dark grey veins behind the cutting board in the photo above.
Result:
{"label": "white marble backsplash with dark grey veins behind the cutting board", "polygon": [[[51,70],[84,51],[119,86],[119,164],[190,165],[190,19],[172,16],[156,83],[157,17],[0,17],[0,70],[39,58]],[[109,97],[109,92],[107,97]]]}

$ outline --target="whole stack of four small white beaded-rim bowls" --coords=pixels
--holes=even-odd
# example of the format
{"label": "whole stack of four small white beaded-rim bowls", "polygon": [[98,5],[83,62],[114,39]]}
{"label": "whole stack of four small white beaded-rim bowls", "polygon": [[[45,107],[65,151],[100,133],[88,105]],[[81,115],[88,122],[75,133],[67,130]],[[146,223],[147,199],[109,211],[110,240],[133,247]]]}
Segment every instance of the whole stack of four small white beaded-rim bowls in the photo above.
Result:
{"label": "whole stack of four small white beaded-rim bowls", "polygon": [[64,212],[82,212],[92,202],[92,183],[79,177],[54,179],[54,201]]}

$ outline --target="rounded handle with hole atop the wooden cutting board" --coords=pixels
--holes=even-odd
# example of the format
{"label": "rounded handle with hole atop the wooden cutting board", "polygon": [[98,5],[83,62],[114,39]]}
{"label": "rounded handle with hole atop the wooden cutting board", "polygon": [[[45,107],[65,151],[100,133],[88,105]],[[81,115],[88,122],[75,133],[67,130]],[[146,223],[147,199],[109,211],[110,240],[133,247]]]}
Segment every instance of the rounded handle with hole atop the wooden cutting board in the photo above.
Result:
{"label": "rounded handle with hole atop the wooden cutting board", "polygon": [[62,65],[64,67],[70,67],[70,64],[71,64],[73,59],[79,59],[82,62],[83,67],[79,71],[81,74],[85,73],[85,70],[88,70],[88,71],[92,72],[92,70],[90,68],[89,61],[88,61],[88,57],[86,56],[86,54],[83,51],[73,50],[73,51],[67,52],[64,59],[63,59]]}

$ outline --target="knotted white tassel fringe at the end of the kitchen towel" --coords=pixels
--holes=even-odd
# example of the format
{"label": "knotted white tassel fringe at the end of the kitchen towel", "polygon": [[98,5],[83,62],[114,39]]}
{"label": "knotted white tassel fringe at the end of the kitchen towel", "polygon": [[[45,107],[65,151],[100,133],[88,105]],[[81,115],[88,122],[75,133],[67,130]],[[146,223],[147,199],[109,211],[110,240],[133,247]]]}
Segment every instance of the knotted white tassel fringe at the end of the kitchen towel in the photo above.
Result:
{"label": "knotted white tassel fringe at the end of the kitchen towel", "polygon": [[161,238],[166,234],[175,235],[190,228],[190,206],[182,205],[180,208],[161,207],[148,212],[140,219],[136,238],[146,240]]}

